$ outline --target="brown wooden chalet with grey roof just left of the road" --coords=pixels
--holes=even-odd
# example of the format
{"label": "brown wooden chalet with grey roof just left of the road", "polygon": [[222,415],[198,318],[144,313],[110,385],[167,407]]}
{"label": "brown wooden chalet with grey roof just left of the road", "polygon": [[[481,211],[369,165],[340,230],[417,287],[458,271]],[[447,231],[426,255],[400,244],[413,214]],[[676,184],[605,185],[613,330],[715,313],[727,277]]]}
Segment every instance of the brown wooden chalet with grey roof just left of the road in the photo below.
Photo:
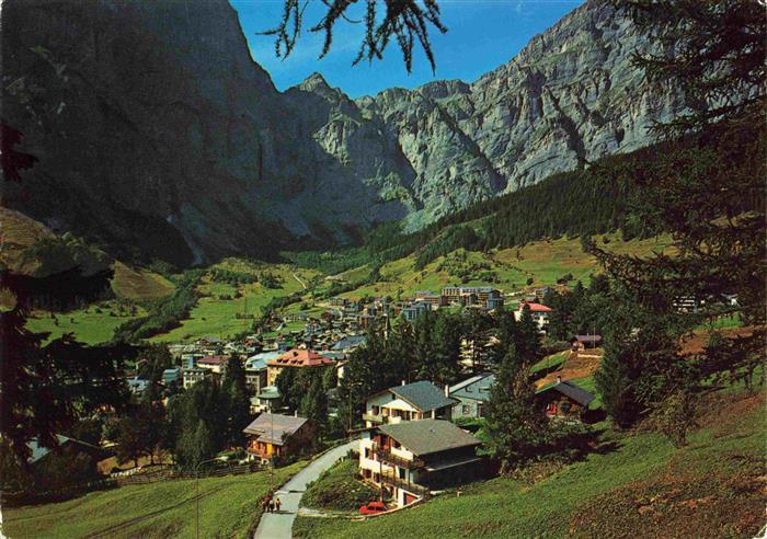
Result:
{"label": "brown wooden chalet with grey roof just left of the road", "polygon": [[285,458],[314,448],[314,423],[306,417],[264,412],[242,432],[248,435],[248,454],[253,459]]}

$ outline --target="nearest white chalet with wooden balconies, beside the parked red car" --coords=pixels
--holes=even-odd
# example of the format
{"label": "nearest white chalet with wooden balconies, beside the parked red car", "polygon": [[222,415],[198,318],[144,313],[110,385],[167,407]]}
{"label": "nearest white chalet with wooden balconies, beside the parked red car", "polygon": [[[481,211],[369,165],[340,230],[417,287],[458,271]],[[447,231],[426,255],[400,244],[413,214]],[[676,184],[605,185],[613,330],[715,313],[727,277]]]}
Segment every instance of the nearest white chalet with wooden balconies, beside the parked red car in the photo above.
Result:
{"label": "nearest white chalet with wooden balconies, beside the parked red car", "polygon": [[481,441],[449,421],[424,420],[380,425],[359,440],[359,473],[392,497],[411,504],[432,490],[476,479]]}

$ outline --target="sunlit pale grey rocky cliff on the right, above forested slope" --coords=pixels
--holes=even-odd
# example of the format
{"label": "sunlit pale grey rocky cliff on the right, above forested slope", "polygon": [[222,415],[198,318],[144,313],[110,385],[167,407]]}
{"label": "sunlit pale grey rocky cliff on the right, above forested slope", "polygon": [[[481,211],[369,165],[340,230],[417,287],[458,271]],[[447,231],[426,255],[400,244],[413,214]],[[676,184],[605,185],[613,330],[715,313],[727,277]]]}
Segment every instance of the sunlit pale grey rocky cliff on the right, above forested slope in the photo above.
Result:
{"label": "sunlit pale grey rocky cliff on the right, above forested slope", "polygon": [[409,217],[411,228],[650,144],[648,127],[683,103],[632,67],[631,54],[649,46],[630,21],[592,1],[472,84],[440,81],[359,100],[416,173],[423,209]]}

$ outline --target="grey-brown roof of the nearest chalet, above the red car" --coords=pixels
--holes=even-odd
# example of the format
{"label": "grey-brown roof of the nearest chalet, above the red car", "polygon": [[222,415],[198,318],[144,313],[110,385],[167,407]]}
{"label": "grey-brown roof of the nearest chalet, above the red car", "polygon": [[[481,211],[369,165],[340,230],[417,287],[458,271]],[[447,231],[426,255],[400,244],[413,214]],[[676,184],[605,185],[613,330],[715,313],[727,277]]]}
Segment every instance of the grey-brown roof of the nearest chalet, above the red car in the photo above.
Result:
{"label": "grey-brown roof of the nearest chalet, above the red car", "polygon": [[445,420],[403,421],[381,425],[378,429],[417,456],[481,444],[479,439]]}

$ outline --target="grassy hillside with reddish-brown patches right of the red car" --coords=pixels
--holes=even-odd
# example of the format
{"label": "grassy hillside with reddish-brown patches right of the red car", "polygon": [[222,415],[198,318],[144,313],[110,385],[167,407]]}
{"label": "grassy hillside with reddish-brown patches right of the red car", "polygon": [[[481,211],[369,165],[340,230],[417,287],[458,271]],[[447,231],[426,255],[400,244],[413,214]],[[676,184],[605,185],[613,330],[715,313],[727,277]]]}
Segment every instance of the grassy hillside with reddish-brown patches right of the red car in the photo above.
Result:
{"label": "grassy hillside with reddish-brown patches right of the red car", "polygon": [[[675,449],[606,431],[603,450],[533,485],[499,478],[357,523],[299,517],[300,538],[753,537],[763,524],[764,393],[720,392]],[[694,488],[690,488],[694,485]]]}

